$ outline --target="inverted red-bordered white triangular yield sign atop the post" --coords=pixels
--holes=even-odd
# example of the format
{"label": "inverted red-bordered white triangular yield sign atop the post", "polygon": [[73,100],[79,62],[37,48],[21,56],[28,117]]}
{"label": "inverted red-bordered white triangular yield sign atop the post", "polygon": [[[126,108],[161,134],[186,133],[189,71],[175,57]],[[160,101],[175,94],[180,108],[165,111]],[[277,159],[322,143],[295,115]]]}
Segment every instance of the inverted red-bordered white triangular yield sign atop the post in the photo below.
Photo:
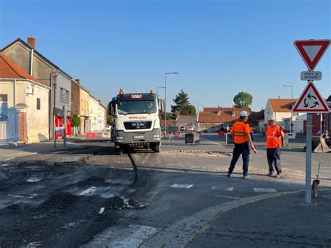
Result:
{"label": "inverted red-bordered white triangular yield sign atop the post", "polygon": [[295,41],[294,45],[309,71],[314,71],[318,61],[320,61],[324,52],[328,49],[330,40]]}

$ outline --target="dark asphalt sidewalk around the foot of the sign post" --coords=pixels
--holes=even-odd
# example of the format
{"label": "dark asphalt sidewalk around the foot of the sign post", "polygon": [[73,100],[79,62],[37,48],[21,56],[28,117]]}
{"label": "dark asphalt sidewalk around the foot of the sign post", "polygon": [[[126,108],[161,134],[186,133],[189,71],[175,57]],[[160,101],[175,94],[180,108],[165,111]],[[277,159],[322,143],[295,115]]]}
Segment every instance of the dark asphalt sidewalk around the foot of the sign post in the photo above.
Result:
{"label": "dark asphalt sidewalk around the foot of the sign post", "polygon": [[248,203],[217,215],[188,247],[330,247],[331,191],[304,204],[304,192]]}

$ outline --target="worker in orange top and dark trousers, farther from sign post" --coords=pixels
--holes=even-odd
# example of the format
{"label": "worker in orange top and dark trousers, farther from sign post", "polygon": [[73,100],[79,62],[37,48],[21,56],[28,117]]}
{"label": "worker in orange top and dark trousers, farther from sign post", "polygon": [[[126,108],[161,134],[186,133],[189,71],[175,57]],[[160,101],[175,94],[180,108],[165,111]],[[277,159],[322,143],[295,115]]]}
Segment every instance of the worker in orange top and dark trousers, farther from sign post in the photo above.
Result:
{"label": "worker in orange top and dark trousers, farther from sign post", "polygon": [[235,163],[242,155],[242,171],[243,178],[249,178],[248,168],[249,168],[249,145],[254,152],[256,152],[253,141],[251,140],[251,129],[249,128],[249,124],[247,124],[247,120],[249,117],[248,112],[242,111],[239,113],[240,120],[233,124],[231,129],[231,136],[233,141],[235,142],[235,148],[233,149],[233,158],[230,163],[230,167],[228,170],[228,177],[231,177],[233,170],[235,169]]}

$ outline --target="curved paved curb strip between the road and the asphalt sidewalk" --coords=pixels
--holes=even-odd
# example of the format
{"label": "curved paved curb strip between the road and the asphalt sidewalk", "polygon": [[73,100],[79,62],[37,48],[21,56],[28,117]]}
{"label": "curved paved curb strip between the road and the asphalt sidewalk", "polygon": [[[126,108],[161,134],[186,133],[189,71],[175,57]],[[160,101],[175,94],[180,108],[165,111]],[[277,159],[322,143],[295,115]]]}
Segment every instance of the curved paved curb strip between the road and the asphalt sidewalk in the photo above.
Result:
{"label": "curved paved curb strip between the road and the asphalt sidewalk", "polygon": [[279,196],[286,196],[302,192],[302,190],[284,191],[274,194],[264,194],[260,196],[251,196],[240,200],[233,200],[227,203],[221,203],[216,206],[207,207],[205,210],[196,212],[191,217],[186,217],[180,221],[175,222],[168,228],[163,229],[152,238],[143,243],[140,247],[186,247],[186,245],[193,240],[197,233],[204,231],[209,226],[209,221],[212,221],[219,214],[233,210],[236,207],[255,203],[259,200],[275,198]]}

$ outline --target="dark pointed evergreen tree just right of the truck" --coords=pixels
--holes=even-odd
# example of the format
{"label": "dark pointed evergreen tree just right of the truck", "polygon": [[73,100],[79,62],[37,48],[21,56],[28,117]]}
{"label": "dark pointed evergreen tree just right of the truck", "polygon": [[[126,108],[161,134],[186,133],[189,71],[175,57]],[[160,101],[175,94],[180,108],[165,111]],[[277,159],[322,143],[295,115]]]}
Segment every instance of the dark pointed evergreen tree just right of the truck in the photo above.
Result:
{"label": "dark pointed evergreen tree just right of the truck", "polygon": [[189,102],[189,96],[183,89],[172,99],[175,105],[171,105],[172,119],[181,113],[182,115],[196,115],[196,108]]}

